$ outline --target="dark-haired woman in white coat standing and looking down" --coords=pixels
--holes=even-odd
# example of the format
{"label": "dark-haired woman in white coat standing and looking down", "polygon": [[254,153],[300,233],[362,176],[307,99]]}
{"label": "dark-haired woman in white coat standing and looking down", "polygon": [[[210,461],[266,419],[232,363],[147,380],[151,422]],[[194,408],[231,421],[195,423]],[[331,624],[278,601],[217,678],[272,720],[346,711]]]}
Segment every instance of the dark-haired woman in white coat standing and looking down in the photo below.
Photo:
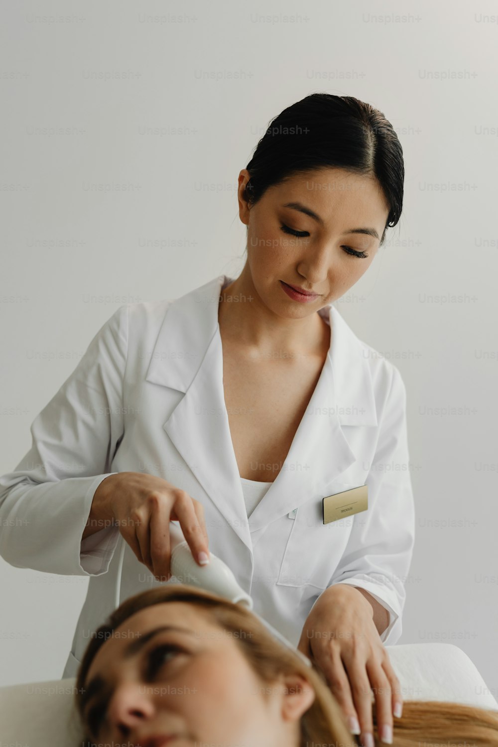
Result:
{"label": "dark-haired woman in white coat standing and looking down", "polygon": [[35,418],[0,479],[0,554],[90,576],[63,677],[117,601],[169,577],[173,520],[313,657],[364,744],[374,689],[389,741],[385,645],[414,544],[405,386],[332,303],[398,222],[403,178],[370,105],[285,109],[240,171],[240,276],[119,307]]}

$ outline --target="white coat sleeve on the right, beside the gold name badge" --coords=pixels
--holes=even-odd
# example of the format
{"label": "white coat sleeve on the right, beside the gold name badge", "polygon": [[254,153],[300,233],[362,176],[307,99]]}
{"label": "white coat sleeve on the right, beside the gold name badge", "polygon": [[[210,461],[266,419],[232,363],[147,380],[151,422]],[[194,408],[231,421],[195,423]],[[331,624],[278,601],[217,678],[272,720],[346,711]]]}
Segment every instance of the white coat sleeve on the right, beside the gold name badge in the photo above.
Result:
{"label": "white coat sleeve on the right, beside the gold name badge", "polygon": [[347,583],[369,592],[389,613],[384,645],[402,632],[405,580],[414,548],[415,517],[406,424],[406,390],[392,364],[376,453],[370,465],[368,509],[355,514],[346,551],[328,586]]}

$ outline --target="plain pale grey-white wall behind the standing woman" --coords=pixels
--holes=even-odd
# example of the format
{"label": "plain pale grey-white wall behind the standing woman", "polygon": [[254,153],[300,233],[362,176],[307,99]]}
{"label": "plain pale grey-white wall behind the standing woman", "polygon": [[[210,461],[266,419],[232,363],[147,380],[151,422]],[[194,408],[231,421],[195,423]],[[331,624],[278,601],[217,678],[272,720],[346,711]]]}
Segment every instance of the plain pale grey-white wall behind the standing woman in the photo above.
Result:
{"label": "plain pale grey-white wall behind the standing woman", "polygon": [[[417,536],[399,642],[455,643],[495,696],[496,12],[29,1],[2,7],[0,53],[1,474],[118,306],[237,276],[237,176],[276,114],[315,91],[384,111],[405,207],[336,305],[408,393]],[[0,684],[60,678],[87,579],[0,566]]]}

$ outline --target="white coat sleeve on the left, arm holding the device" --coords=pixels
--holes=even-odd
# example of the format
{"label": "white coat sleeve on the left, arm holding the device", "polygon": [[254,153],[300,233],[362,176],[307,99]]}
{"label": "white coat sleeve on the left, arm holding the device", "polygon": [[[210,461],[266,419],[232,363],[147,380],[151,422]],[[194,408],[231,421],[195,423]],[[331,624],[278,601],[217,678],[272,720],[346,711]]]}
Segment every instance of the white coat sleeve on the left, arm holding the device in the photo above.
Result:
{"label": "white coat sleeve on the left, arm holding the device", "polygon": [[124,433],[128,305],[116,309],[31,424],[31,449],[0,477],[0,556],[17,568],[108,571],[116,524],[81,540],[93,495]]}

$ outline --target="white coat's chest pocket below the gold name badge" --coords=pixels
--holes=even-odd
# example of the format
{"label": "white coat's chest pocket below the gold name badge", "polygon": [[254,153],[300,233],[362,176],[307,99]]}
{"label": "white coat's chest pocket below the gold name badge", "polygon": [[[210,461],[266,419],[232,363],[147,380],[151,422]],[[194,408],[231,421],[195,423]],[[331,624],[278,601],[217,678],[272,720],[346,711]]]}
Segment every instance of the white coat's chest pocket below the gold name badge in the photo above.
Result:
{"label": "white coat's chest pocket below the gold name badge", "polygon": [[[327,495],[358,487],[358,483],[334,483]],[[322,497],[323,498],[323,497]],[[346,549],[355,516],[323,524],[322,498],[302,503],[290,530],[277,586],[314,586],[326,589]]]}

